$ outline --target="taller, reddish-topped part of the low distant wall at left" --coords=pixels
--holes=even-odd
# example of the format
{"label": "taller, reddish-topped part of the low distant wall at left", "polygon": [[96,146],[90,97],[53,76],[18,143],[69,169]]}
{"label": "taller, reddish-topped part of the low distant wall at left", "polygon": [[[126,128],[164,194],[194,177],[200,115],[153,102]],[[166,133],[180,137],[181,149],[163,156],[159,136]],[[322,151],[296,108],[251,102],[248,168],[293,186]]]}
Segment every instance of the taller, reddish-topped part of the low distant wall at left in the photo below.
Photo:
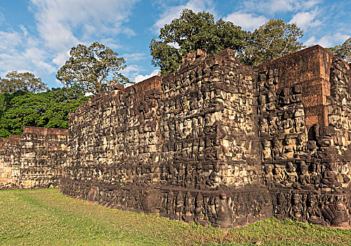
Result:
{"label": "taller, reddish-topped part of the low distant wall at left", "polygon": [[67,129],[24,127],[20,138],[20,187],[58,187],[67,156]]}

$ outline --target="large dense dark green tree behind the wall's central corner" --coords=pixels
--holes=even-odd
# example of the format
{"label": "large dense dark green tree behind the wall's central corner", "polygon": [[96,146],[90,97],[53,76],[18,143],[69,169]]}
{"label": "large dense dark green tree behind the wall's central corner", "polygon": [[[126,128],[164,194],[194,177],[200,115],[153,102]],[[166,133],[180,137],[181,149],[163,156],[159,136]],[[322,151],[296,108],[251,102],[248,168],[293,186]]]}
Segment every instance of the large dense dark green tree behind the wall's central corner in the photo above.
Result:
{"label": "large dense dark green tree behind the wall's central corner", "polygon": [[151,39],[151,63],[159,66],[161,75],[177,70],[182,56],[200,48],[208,54],[224,48],[242,51],[248,32],[232,22],[215,18],[210,13],[193,13],[184,9],[179,18],[160,29],[158,39]]}

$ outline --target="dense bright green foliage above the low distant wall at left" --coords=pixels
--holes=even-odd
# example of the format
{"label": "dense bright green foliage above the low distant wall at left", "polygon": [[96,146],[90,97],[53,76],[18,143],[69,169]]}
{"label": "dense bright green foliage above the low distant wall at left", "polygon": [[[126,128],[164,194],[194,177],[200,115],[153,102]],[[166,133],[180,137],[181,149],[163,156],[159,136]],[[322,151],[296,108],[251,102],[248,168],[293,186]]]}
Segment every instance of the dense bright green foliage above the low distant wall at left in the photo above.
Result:
{"label": "dense bright green foliage above the low distant wall at left", "polygon": [[77,86],[43,93],[16,91],[0,95],[0,138],[20,135],[23,127],[68,129],[68,113],[87,101]]}

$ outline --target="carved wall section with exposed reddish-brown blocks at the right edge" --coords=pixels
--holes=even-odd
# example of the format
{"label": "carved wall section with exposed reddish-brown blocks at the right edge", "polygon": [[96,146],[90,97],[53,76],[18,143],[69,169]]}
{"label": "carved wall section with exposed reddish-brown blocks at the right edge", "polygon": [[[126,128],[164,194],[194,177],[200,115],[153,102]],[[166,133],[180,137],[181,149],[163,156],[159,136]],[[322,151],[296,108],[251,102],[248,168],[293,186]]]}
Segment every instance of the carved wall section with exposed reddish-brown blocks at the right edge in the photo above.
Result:
{"label": "carved wall section with exposed reddish-brown blocks at the right edge", "polygon": [[[338,140],[335,123],[329,123],[347,120],[332,112],[339,108],[346,115],[347,106],[338,102],[347,98],[331,93],[346,85],[347,71],[333,69],[334,59],[313,46],[256,67],[262,161],[279,218],[349,226],[350,167],[337,161],[350,158],[338,153],[349,143],[344,127],[339,125]],[[343,79],[332,82],[337,73]]]}

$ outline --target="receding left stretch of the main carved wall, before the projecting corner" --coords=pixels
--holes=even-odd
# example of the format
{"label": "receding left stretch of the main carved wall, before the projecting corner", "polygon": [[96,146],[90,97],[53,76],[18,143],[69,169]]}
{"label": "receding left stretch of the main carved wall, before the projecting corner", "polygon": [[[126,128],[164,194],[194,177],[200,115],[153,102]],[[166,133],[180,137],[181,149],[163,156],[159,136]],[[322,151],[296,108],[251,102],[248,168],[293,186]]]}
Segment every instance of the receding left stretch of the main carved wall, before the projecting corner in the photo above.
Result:
{"label": "receding left stretch of the main carved wall, before the projecting corner", "polygon": [[160,77],[120,89],[98,94],[70,115],[60,190],[142,211],[144,189],[160,182]]}

